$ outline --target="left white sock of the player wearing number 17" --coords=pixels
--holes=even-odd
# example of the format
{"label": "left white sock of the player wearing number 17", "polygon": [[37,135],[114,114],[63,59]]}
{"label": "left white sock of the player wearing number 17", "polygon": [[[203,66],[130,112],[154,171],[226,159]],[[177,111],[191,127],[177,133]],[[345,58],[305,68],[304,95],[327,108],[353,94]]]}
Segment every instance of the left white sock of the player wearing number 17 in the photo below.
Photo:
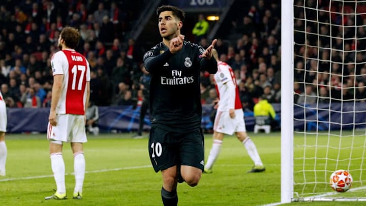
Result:
{"label": "left white sock of the player wearing number 17", "polygon": [[57,186],[57,193],[65,194],[65,163],[62,153],[51,154],[51,167]]}

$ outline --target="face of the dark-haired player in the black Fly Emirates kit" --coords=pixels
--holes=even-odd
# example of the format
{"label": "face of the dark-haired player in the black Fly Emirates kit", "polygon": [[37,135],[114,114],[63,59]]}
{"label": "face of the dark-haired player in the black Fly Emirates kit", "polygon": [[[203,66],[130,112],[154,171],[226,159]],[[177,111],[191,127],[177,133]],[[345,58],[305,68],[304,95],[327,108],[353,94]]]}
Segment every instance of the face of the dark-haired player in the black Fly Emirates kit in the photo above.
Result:
{"label": "face of the dark-haired player in the black Fly Emirates kit", "polygon": [[177,37],[177,31],[182,22],[173,16],[172,11],[164,11],[159,15],[159,32],[161,37],[172,39]]}

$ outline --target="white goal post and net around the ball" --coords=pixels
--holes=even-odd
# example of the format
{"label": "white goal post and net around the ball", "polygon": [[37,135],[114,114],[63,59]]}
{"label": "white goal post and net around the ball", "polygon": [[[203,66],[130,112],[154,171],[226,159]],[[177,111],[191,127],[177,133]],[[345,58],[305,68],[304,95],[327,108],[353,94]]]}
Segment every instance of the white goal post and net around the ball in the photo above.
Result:
{"label": "white goal post and net around the ball", "polygon": [[282,33],[281,201],[366,201],[366,1],[282,1]]}

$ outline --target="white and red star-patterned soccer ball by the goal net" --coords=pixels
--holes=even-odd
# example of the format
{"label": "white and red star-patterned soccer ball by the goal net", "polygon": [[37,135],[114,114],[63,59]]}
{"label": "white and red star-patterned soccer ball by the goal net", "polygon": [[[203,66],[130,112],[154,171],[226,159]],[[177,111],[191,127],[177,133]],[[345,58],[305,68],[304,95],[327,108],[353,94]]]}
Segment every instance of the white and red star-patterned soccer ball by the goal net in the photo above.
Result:
{"label": "white and red star-patterned soccer ball by the goal net", "polygon": [[346,192],[350,189],[352,180],[348,171],[339,169],[330,175],[330,187],[337,192]]}

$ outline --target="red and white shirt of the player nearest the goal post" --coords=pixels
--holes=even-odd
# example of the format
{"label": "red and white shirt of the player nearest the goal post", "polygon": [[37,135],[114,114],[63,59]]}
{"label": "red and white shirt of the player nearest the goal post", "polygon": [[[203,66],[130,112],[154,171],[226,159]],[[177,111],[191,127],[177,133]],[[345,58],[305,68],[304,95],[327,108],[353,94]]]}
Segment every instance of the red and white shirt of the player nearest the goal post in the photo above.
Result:
{"label": "red and white shirt of the player nearest the goal post", "polygon": [[214,78],[216,91],[220,99],[218,111],[242,109],[239,89],[236,86],[235,75],[231,67],[225,62],[218,62],[218,71]]}

